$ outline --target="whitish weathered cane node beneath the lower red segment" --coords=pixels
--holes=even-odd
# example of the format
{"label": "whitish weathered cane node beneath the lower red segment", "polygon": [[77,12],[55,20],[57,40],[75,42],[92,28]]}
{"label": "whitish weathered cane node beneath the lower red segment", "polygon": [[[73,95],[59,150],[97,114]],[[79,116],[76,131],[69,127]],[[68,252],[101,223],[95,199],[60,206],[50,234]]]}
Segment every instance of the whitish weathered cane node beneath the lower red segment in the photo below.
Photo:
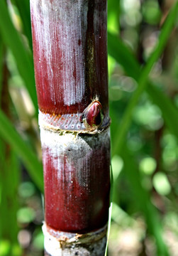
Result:
{"label": "whitish weathered cane node beneath the lower red segment", "polygon": [[106,250],[107,226],[84,235],[67,232],[57,232],[51,235],[45,223],[45,252],[50,256],[104,256]]}

